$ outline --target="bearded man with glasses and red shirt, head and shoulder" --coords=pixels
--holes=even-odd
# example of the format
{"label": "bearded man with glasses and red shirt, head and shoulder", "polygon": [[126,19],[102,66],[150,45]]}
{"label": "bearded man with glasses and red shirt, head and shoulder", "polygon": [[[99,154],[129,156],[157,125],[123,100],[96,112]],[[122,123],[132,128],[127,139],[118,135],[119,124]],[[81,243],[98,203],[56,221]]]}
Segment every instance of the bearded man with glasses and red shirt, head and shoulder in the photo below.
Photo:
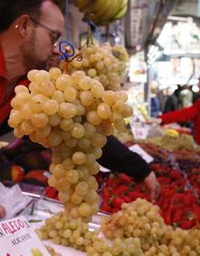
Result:
{"label": "bearded man with glasses and red shirt, head and shoulder", "polygon": [[[17,84],[28,86],[26,73],[45,68],[59,56],[56,42],[64,31],[64,16],[56,1],[0,2],[0,126],[11,110]],[[1,129],[1,132],[2,129]]]}

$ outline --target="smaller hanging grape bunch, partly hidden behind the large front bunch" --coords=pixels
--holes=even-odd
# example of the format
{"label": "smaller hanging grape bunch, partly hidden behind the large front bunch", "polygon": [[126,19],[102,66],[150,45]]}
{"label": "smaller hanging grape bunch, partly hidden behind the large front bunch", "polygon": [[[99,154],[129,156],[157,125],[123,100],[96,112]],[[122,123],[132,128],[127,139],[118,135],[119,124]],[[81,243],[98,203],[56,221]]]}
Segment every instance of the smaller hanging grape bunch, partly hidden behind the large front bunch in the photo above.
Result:
{"label": "smaller hanging grape bunch, partly hidden behind the large front bunch", "polygon": [[70,74],[84,70],[87,76],[100,81],[106,90],[121,89],[120,62],[112,52],[112,46],[88,46],[80,50],[82,60],[75,58],[68,64]]}

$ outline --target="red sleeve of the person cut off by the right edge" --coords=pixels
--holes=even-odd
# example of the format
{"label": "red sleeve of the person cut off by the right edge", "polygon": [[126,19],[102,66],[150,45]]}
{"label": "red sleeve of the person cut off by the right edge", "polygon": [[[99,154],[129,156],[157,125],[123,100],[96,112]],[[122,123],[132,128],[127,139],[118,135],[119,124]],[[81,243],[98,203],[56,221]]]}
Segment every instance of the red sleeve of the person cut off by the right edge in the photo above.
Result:
{"label": "red sleeve of the person cut off by the right edge", "polygon": [[182,108],[162,115],[163,124],[192,121],[195,142],[200,144],[200,99],[189,108]]}

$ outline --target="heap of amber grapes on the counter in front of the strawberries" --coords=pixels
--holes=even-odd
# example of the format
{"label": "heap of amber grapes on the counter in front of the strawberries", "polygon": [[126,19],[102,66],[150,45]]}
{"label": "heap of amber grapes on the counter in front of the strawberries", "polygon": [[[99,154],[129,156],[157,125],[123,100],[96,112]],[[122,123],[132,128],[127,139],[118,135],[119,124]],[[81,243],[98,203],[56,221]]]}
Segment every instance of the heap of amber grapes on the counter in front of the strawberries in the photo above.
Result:
{"label": "heap of amber grapes on the counter in front of the strawberries", "polygon": [[102,219],[101,228],[111,240],[139,239],[145,256],[200,255],[200,230],[174,230],[165,225],[159,208],[146,200],[123,204],[122,210]]}

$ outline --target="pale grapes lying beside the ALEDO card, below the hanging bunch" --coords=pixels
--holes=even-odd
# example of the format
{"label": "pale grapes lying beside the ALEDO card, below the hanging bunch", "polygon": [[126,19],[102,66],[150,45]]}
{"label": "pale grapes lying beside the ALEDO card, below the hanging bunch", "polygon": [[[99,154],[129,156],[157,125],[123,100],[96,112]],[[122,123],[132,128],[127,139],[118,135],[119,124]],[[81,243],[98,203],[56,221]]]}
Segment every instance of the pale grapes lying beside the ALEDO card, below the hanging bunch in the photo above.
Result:
{"label": "pale grapes lying beside the ALEDO card, below the hanging bunch", "polygon": [[41,240],[51,239],[55,244],[86,251],[87,256],[142,256],[140,240],[135,238],[108,241],[99,231],[89,230],[81,219],[70,219],[67,212],[60,212],[45,220],[45,225],[36,230]]}

